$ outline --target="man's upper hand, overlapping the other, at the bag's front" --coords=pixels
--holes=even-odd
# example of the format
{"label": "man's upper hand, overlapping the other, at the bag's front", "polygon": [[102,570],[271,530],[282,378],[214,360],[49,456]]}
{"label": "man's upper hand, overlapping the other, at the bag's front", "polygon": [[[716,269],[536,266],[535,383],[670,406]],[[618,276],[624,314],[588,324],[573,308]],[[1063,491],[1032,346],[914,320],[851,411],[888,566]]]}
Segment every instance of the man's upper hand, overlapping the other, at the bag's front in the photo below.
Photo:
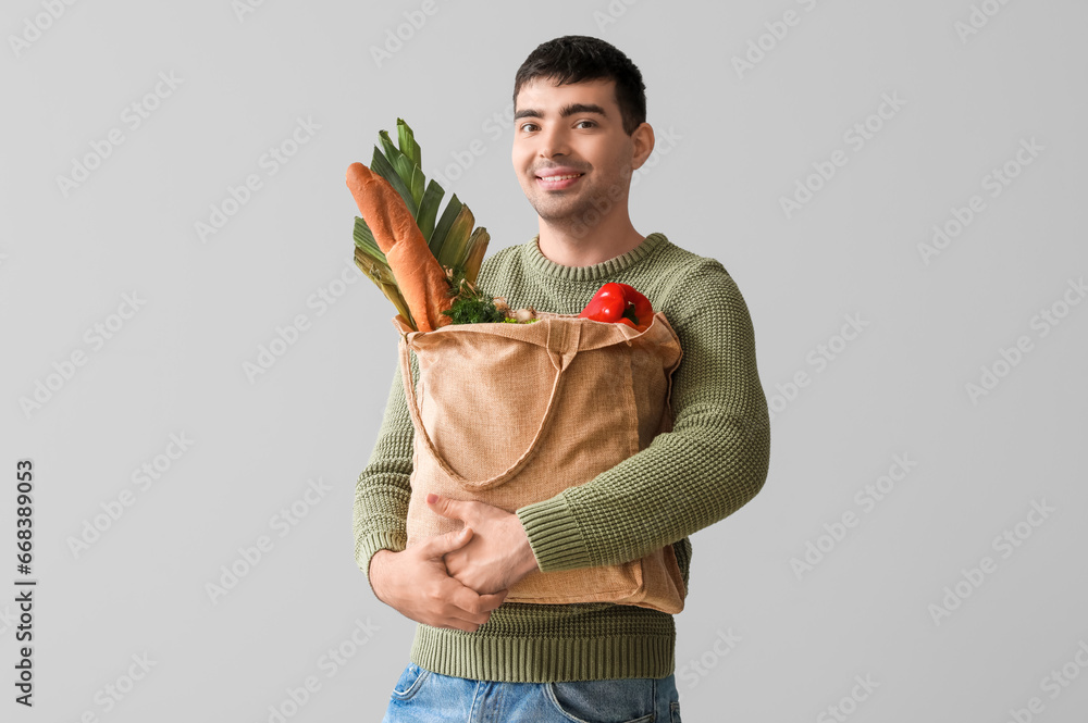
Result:
{"label": "man's upper hand, overlapping the other, at the bag's front", "polygon": [[468,545],[445,553],[446,570],[463,585],[481,594],[508,590],[540,570],[517,514],[486,502],[455,500],[433,493],[426,496],[426,502],[435,514],[461,520],[472,529]]}

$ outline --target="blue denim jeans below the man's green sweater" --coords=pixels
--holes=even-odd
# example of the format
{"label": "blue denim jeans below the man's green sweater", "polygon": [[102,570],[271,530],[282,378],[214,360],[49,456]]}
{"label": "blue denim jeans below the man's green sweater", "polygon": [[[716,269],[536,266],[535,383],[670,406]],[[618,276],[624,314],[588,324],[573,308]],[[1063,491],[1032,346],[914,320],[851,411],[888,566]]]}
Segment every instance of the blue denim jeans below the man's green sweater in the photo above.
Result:
{"label": "blue denim jeans below the man's green sweater", "polygon": [[409,662],[382,723],[681,723],[676,674],[560,683],[450,677]]}

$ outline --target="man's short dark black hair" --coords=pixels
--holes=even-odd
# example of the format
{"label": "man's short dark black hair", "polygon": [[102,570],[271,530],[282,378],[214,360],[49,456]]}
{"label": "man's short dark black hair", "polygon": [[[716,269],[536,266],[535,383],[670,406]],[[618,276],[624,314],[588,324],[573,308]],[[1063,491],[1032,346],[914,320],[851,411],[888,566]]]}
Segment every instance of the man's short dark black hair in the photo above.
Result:
{"label": "man's short dark black hair", "polygon": [[630,136],[646,122],[646,86],[642,73],[630,58],[601,38],[565,35],[536,46],[514,78],[515,108],[521,87],[540,77],[549,78],[556,85],[613,79],[623,132]]}

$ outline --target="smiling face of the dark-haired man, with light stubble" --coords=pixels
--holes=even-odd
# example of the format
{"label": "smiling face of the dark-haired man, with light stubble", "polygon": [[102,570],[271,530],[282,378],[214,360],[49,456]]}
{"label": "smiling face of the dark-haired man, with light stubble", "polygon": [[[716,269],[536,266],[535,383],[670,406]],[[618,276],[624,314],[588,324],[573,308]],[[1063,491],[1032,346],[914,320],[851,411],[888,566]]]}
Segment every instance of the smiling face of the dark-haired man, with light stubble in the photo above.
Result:
{"label": "smiling face of the dark-haired man, with light stubble", "polygon": [[[611,208],[626,212],[632,170],[644,159],[623,133],[615,80],[536,78],[518,91],[514,117],[514,171],[541,219],[584,232]],[[581,175],[542,179],[572,174]]]}

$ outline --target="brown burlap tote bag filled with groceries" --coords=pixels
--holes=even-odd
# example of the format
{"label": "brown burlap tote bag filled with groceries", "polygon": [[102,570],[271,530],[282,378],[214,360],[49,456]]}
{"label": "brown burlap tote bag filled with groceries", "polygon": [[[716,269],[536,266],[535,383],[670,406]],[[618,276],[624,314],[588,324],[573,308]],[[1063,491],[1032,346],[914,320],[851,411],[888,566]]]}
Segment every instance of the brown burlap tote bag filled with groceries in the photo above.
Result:
{"label": "brown burlap tote bag filled with groceries", "polygon": [[[593,479],[671,431],[671,374],[682,351],[662,312],[642,333],[577,315],[537,316],[531,324],[433,332],[394,317],[415,426],[409,547],[463,525],[433,512],[429,493],[514,512]],[[419,360],[415,384],[409,349]],[[676,552],[666,545],[622,564],[535,571],[506,600],[678,613],[685,596]]]}

